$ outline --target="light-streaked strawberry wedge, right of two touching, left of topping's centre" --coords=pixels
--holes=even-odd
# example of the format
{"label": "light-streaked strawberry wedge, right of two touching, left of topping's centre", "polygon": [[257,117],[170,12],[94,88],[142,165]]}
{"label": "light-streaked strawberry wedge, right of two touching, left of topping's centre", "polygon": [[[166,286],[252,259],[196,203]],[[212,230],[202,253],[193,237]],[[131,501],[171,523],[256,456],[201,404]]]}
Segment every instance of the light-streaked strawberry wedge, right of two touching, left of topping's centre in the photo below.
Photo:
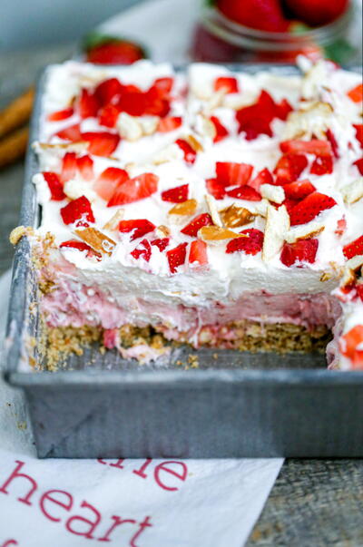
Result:
{"label": "light-streaked strawberry wedge, right of two touching, left of topping's centre", "polygon": [[111,200],[107,203],[107,207],[123,205],[125,203],[132,203],[133,201],[149,198],[158,190],[158,181],[159,177],[153,173],[143,173],[138,177],[123,182],[123,184],[114,191]]}

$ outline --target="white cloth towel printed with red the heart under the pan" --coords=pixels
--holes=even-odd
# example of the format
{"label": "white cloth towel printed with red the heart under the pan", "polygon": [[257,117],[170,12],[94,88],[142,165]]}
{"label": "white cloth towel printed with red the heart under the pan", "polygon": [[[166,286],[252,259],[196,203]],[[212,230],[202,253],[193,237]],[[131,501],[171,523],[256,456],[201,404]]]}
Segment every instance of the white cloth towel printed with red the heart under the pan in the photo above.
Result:
{"label": "white cloth towel printed with red the heart under the pan", "polygon": [[22,393],[0,381],[0,547],[241,547],[282,462],[37,460]]}

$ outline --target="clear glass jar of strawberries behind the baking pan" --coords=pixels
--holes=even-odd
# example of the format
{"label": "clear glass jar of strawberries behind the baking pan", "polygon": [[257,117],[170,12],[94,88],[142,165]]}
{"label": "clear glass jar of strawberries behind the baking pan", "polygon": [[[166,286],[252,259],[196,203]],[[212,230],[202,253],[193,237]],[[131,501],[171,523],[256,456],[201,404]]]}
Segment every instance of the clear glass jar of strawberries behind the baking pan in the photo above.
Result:
{"label": "clear glass jar of strawberries behind the baking pan", "polygon": [[210,63],[294,63],[298,54],[307,54],[314,60],[325,56],[336,63],[353,63],[357,48],[349,30],[355,11],[351,3],[332,23],[308,30],[298,23],[296,32],[272,33],[235,23],[215,7],[205,7],[191,57]]}

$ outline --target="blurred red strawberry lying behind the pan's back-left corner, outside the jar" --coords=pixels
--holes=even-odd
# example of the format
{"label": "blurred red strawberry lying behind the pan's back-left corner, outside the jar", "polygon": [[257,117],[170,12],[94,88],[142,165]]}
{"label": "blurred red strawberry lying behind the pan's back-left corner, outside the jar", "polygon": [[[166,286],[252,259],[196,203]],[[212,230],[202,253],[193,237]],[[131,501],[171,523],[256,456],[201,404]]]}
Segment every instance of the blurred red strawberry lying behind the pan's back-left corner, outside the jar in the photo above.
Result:
{"label": "blurred red strawberry lying behind the pan's back-left corner, outside the jar", "polygon": [[140,45],[116,38],[103,41],[87,51],[87,61],[94,64],[132,64],[144,56]]}

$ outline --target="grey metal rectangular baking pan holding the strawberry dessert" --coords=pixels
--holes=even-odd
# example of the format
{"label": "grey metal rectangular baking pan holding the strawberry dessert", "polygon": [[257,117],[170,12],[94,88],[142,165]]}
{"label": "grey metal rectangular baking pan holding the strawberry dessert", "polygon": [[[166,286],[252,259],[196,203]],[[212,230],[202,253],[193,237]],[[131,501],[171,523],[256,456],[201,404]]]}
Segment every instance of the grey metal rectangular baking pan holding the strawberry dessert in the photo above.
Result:
{"label": "grey metal rectangular baking pan holding the strawberry dessert", "polygon": [[[255,73],[266,65],[237,68]],[[30,142],[39,135],[45,78]],[[25,226],[38,224],[37,170],[29,146]],[[224,350],[215,359],[215,350],[186,348],[166,365],[139,366],[93,347],[57,372],[29,372],[26,341],[38,329],[29,313],[37,300],[29,250],[22,239],[15,251],[5,379],[25,392],[39,457],[363,456],[363,372],[329,371],[321,356]],[[176,358],[194,353],[198,369],[177,366]]]}

